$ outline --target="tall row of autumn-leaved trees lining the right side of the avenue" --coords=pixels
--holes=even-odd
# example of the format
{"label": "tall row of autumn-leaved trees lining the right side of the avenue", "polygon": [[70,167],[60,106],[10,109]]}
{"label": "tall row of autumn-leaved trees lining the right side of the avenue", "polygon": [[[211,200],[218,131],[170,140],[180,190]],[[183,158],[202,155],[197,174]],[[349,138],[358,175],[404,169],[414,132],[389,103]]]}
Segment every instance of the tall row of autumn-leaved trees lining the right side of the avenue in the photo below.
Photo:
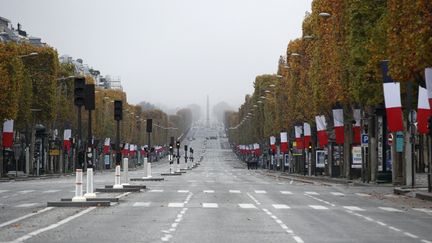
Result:
{"label": "tall row of autumn-leaved trees lining the right side of the avenue", "polygon": [[316,115],[332,121],[336,104],[346,121],[354,107],[363,118],[374,116],[384,102],[381,60],[389,60],[389,74],[401,82],[403,107],[416,107],[417,89],[410,93],[408,84],[424,87],[424,69],[432,66],[431,1],[314,0],[302,30],[277,74],[258,76],[254,93],[226,114],[233,143],[268,143],[282,130],[293,133],[295,124],[315,124]]}

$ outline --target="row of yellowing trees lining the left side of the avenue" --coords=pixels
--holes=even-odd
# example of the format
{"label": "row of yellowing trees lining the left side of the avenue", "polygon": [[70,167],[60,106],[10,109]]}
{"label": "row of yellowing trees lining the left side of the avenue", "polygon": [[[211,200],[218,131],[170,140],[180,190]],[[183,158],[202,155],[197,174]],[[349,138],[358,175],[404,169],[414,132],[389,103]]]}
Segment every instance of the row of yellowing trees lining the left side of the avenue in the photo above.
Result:
{"label": "row of yellowing trees lining the left side of the avenue", "polygon": [[[78,75],[73,64],[59,63],[52,47],[0,43],[0,120],[13,119],[16,139],[25,138],[27,144],[35,123],[43,124],[49,135],[57,129],[60,140],[65,128],[72,128],[75,136],[73,76]],[[88,76],[86,82],[94,83],[94,80]],[[121,90],[96,87],[93,134],[102,142],[106,137],[115,137],[114,100],[123,101],[122,142],[146,144],[147,118],[153,119],[152,143],[161,145],[167,144],[170,136],[179,137],[192,123],[188,108],[168,115],[154,107],[143,109],[129,104],[126,93]],[[84,138],[87,117],[83,112]]]}

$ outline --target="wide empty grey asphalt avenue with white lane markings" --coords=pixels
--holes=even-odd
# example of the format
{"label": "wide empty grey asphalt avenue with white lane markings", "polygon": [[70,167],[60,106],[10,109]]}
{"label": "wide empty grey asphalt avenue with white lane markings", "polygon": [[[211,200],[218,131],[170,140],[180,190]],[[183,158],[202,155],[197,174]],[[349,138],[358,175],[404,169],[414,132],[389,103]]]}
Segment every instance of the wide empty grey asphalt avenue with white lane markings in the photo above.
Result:
{"label": "wide empty grey asphalt avenue with white lane markings", "polygon": [[[185,142],[201,165],[110,207],[51,208],[74,177],[0,183],[0,242],[432,242],[432,205],[392,188],[298,183],[247,170],[225,138],[195,128]],[[182,144],[183,148],[183,144]],[[184,159],[181,160],[184,166]],[[168,172],[153,163],[153,176]],[[130,177],[142,177],[142,170]],[[95,188],[113,184],[97,173]],[[98,197],[108,196],[99,193]]]}

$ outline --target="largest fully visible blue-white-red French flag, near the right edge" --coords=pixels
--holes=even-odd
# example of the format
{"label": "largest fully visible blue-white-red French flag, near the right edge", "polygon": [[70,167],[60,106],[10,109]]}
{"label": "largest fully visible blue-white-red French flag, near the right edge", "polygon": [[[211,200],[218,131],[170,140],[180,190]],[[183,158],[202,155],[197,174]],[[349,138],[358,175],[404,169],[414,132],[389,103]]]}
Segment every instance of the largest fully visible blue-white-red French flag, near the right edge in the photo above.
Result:
{"label": "largest fully visible blue-white-red French flag, near the right edge", "polygon": [[381,62],[384,77],[384,101],[387,113],[387,127],[390,132],[403,131],[400,83],[388,75],[388,61]]}

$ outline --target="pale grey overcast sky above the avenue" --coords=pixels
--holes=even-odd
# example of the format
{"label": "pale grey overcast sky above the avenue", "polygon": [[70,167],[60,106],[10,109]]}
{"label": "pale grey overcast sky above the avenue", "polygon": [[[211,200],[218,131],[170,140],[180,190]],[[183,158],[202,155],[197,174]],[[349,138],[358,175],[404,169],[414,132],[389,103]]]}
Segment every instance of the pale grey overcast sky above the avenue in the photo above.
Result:
{"label": "pale grey overcast sky above the avenue", "polygon": [[238,107],[275,73],[312,0],[0,0],[60,55],[120,76],[130,103]]}

